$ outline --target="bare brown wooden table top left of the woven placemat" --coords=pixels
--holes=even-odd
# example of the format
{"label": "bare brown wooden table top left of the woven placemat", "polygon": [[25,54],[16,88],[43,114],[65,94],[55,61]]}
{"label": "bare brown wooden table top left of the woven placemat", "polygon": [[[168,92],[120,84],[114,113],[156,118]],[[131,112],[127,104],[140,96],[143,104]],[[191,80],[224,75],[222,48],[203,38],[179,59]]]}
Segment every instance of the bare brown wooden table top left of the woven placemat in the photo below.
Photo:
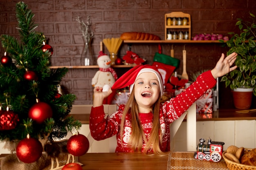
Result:
{"label": "bare brown wooden table top left of the woven placemat", "polygon": [[83,164],[83,170],[166,170],[168,155],[86,153],[78,160]]}

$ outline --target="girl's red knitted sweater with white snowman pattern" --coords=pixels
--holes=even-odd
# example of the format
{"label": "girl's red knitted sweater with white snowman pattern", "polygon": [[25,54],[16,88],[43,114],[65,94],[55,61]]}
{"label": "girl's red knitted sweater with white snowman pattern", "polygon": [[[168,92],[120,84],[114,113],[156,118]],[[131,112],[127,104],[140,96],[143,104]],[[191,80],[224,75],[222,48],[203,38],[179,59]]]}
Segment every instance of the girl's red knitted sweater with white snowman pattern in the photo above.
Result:
{"label": "girl's red knitted sweater with white snowman pattern", "polygon": [[[185,91],[165,102],[160,106],[159,121],[161,126],[162,151],[170,151],[170,130],[169,125],[178,119],[200,96],[208,89],[216,85],[216,79],[213,78],[211,71],[202,73],[195,82],[191,84]],[[123,133],[123,146],[121,146],[120,124],[125,105],[121,105],[119,110],[106,119],[103,106],[92,107],[90,114],[90,131],[95,140],[103,140],[116,135],[117,148],[116,152],[132,152],[127,145],[132,130],[130,123],[130,113],[126,115],[126,123]],[[153,113],[139,113],[139,119],[144,129],[146,137],[148,137],[152,128]],[[141,152],[145,144],[142,147]]]}

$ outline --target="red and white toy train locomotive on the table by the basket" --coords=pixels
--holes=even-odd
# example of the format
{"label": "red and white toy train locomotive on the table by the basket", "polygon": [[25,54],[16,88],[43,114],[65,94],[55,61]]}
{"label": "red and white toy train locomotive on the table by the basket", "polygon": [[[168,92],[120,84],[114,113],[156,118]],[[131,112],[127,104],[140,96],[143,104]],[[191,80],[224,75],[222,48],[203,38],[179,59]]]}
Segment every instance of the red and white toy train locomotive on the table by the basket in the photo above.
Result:
{"label": "red and white toy train locomotive on the table by the basket", "polygon": [[194,153],[195,159],[204,159],[207,161],[218,162],[222,158],[224,142],[211,141],[207,138],[207,144],[204,144],[204,139],[199,139],[200,143],[197,146],[197,152]]}

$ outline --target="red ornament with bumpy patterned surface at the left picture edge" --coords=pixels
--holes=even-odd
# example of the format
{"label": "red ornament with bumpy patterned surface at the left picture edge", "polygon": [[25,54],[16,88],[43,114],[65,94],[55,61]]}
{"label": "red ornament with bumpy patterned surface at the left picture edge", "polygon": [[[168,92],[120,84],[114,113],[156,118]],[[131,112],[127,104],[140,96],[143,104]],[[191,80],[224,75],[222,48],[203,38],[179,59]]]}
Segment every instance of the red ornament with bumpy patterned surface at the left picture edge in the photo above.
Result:
{"label": "red ornament with bumpy patterned surface at the left picture edge", "polygon": [[0,110],[0,130],[14,129],[18,121],[18,115],[13,111]]}

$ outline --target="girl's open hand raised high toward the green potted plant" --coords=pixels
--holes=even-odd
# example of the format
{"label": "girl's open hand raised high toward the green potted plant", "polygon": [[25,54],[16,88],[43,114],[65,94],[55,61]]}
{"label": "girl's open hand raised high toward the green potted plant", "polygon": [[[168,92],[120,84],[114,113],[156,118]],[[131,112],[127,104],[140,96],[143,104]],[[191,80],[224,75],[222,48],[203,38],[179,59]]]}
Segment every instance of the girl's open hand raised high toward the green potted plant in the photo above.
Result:
{"label": "girl's open hand raised high toward the green potted plant", "polygon": [[230,71],[233,71],[237,68],[237,66],[231,67],[236,61],[237,53],[231,53],[225,58],[225,55],[222,53],[220,60],[217,62],[216,66],[211,70],[213,77],[216,79],[217,77],[221,77]]}

